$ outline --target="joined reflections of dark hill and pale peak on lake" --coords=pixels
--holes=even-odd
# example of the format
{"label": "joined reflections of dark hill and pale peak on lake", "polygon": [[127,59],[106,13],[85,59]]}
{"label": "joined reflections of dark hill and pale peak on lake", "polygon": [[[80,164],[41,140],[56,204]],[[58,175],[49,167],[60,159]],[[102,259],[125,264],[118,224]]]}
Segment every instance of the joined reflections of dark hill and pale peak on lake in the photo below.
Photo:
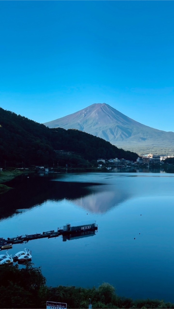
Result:
{"label": "joined reflections of dark hill and pale peak on lake", "polygon": [[[72,201],[92,213],[103,214],[112,207],[125,201],[129,194],[122,190],[111,188],[102,183],[69,182],[52,180],[49,177],[20,176],[6,183],[14,188],[1,196],[0,218],[7,218],[15,213],[21,213],[45,201]],[[54,176],[55,177],[55,176]],[[101,190],[102,186],[102,190]],[[7,207],[8,205],[8,207]]]}

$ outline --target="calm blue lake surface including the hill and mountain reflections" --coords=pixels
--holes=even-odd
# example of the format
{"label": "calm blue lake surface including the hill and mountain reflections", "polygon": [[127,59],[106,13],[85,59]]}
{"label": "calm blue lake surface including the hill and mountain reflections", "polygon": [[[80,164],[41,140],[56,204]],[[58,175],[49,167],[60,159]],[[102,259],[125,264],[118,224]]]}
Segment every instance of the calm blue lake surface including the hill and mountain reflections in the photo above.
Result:
{"label": "calm blue lake surface including the hill and mountain reflections", "polygon": [[0,237],[57,230],[67,222],[98,224],[89,237],[13,245],[10,254],[32,250],[48,286],[109,282],[120,296],[174,302],[174,174],[49,174],[8,185],[14,189],[0,197]]}

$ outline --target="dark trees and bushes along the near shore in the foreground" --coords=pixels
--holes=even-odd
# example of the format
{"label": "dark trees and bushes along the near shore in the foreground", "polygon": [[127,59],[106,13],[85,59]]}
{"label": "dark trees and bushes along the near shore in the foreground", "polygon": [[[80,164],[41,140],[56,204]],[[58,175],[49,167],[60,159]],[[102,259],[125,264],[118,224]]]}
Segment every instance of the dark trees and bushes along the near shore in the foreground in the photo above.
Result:
{"label": "dark trees and bushes along the near shore in the foreground", "polygon": [[4,265],[0,268],[0,308],[46,308],[46,301],[67,303],[67,309],[88,308],[89,298],[95,308],[174,308],[160,300],[133,300],[119,297],[109,283],[98,288],[46,286],[40,268],[28,263],[25,268]]}

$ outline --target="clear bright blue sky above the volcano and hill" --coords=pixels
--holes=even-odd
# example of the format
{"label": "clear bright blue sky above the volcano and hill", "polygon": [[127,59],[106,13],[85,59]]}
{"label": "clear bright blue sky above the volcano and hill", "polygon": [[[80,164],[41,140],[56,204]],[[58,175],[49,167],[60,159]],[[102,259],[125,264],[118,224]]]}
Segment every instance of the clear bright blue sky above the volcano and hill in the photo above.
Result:
{"label": "clear bright blue sky above the volcano and hill", "polygon": [[0,106],[47,122],[107,103],[174,131],[173,1],[0,1]]}

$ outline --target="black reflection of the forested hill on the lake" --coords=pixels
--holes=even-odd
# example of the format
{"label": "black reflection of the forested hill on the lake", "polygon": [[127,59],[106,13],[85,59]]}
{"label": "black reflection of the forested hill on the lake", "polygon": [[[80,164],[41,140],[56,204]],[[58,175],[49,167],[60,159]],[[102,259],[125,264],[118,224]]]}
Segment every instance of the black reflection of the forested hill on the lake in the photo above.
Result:
{"label": "black reflection of the forested hill on the lake", "polygon": [[[19,209],[24,210],[42,205],[48,200],[76,200],[90,195],[92,193],[91,186],[99,185],[95,183],[78,183],[77,185],[75,182],[50,181],[57,176],[39,177],[31,175],[28,179],[27,176],[23,175],[6,182],[6,185],[13,189],[0,197],[0,218],[12,216]],[[61,179],[61,175],[59,179]]]}

